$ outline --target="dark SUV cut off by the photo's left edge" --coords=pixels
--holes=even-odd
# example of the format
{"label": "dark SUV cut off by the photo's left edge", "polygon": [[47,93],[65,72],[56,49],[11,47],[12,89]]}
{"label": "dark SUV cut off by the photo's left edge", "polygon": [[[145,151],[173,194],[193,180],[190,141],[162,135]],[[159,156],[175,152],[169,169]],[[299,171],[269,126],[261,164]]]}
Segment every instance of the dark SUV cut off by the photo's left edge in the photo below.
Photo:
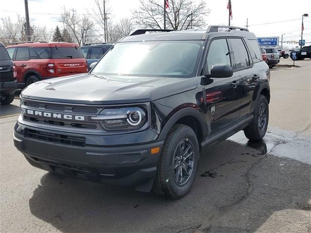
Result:
{"label": "dark SUV cut off by the photo's left edge", "polygon": [[0,103],[10,104],[17,89],[17,71],[9,53],[0,42]]}

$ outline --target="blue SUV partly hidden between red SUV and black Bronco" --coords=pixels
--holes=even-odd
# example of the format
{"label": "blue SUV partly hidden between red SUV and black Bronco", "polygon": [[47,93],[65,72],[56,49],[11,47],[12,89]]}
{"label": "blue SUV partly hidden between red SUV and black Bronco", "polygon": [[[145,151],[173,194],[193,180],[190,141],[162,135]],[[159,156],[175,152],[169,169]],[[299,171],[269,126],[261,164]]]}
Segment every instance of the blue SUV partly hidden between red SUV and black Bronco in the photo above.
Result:
{"label": "blue SUV partly hidden between red SUV and black Bronco", "polygon": [[86,58],[87,67],[91,63],[97,62],[112,47],[112,43],[91,43],[81,47],[82,53]]}

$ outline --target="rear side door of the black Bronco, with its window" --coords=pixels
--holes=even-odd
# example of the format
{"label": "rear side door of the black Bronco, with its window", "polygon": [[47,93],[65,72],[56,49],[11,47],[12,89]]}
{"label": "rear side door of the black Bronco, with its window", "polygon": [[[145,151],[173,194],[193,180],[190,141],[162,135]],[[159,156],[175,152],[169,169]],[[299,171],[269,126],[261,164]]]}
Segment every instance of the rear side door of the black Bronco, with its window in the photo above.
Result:
{"label": "rear side door of the black Bronco, with its window", "polygon": [[[242,93],[241,104],[239,106],[239,118],[242,118],[251,113],[254,91],[260,77],[260,70],[253,64],[251,56],[254,57],[254,61],[256,62],[260,60],[257,58],[259,55],[256,55],[253,47],[247,40],[243,38],[230,38],[229,42],[234,55],[233,70],[238,71],[241,77],[240,83]],[[255,41],[255,43],[257,43],[257,41]],[[248,47],[246,45],[248,45]],[[255,47],[256,45],[253,46]],[[248,48],[252,51],[252,54],[250,54]],[[260,52],[259,47],[257,52]]]}

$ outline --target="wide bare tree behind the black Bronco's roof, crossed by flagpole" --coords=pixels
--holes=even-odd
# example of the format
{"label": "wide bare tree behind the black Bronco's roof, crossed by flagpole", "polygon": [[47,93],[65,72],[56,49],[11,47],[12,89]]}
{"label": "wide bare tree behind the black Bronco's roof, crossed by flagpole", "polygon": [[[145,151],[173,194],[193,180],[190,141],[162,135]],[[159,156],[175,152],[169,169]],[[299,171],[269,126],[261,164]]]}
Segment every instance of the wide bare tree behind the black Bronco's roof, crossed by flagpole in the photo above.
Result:
{"label": "wide bare tree behind the black Bronco's roof, crossed by flagpole", "polygon": [[[133,12],[133,19],[141,28],[162,29],[164,5],[158,0],[139,0],[140,6]],[[206,2],[201,0],[170,0],[166,9],[166,25],[169,29],[187,30],[206,25],[204,16],[209,14]]]}

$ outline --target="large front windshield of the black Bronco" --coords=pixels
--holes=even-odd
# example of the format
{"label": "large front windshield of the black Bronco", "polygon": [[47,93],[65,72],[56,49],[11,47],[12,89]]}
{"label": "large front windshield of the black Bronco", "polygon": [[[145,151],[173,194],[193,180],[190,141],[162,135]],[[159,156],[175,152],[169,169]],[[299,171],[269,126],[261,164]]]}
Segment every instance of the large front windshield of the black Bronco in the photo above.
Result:
{"label": "large front windshield of the black Bronco", "polygon": [[192,77],[202,45],[201,41],[118,43],[93,68],[92,74]]}

